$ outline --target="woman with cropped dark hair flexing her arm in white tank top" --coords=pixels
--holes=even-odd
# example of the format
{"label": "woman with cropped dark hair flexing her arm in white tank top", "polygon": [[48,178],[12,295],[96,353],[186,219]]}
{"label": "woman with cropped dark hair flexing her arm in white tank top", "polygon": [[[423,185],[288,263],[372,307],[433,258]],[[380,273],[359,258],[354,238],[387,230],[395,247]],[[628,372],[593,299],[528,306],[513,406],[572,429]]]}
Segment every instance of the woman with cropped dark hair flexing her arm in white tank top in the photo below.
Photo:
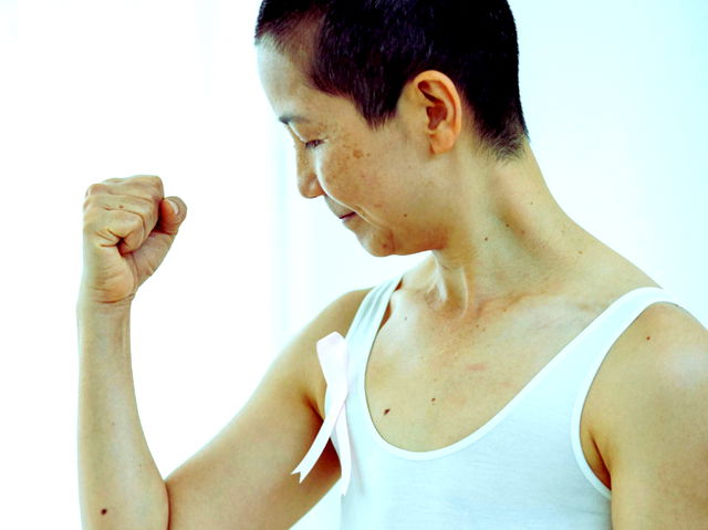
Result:
{"label": "woman with cropped dark hair flexing her arm in white tank top", "polygon": [[129,310],[187,207],[158,177],[92,186],[84,524],[288,528],[340,476],[343,528],[708,520],[708,332],[551,196],[506,1],[266,1],[257,45],[301,194],[374,256],[430,256],[333,301],[163,479],[137,417]]}

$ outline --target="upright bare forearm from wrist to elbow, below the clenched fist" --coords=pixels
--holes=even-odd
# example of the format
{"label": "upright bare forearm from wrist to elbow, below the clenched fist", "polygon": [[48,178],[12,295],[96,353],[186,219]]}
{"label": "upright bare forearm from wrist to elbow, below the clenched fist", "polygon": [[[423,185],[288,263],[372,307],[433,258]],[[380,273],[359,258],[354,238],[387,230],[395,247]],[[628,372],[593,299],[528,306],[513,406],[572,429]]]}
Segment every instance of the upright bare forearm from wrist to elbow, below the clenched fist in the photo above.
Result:
{"label": "upright bare forearm from wrist to elbow, below the clenched fist", "polygon": [[137,412],[131,313],[86,306],[79,323],[79,495],[85,530],[168,526],[168,498]]}

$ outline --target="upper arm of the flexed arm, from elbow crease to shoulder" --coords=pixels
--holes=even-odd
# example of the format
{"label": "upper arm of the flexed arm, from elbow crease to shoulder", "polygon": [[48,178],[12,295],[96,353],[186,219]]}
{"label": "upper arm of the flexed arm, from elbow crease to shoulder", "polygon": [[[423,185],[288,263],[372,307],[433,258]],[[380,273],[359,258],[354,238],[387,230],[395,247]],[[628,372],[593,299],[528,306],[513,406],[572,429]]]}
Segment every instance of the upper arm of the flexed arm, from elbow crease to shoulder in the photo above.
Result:
{"label": "upper arm of the flexed arm, from elbow crease to shoulder", "polygon": [[291,471],[322,426],[316,342],[333,331],[346,335],[366,292],[325,308],[273,361],[233,419],[167,477],[171,530],[287,529],[330,490],[341,474],[331,441],[302,484]]}

